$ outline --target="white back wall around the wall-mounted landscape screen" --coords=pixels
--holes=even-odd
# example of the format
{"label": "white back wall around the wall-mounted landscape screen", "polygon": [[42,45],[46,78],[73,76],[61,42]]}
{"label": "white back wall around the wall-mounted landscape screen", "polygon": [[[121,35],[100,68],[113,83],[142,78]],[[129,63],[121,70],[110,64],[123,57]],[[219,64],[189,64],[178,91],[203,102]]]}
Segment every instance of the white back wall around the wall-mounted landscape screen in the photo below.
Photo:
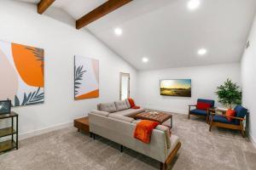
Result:
{"label": "white back wall around the wall-mounted landscape screen", "polygon": [[[157,71],[139,71],[137,75],[137,103],[149,109],[188,113],[188,105],[198,98],[218,100],[216,88],[227,78],[240,84],[240,65],[206,65],[172,68]],[[192,79],[192,97],[160,95],[160,79]],[[217,105],[219,105],[217,103]]]}

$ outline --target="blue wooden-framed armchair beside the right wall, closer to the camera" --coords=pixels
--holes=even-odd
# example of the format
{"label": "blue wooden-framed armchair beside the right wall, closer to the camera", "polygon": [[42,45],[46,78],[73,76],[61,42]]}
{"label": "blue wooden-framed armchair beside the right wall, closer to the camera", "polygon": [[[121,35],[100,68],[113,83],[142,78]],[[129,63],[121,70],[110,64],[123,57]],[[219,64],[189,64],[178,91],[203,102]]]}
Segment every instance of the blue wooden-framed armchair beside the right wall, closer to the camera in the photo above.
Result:
{"label": "blue wooden-framed armchair beside the right wall, closer to the camera", "polygon": [[[230,128],[234,130],[240,130],[242,137],[245,137],[243,121],[245,121],[245,116],[247,116],[247,109],[241,105],[236,105],[234,109],[236,111],[235,116],[226,116],[225,112],[222,110],[210,110],[210,127],[209,131],[211,132],[212,126]],[[216,115],[215,112],[220,111],[222,115]],[[228,121],[227,117],[232,118],[232,121]]]}

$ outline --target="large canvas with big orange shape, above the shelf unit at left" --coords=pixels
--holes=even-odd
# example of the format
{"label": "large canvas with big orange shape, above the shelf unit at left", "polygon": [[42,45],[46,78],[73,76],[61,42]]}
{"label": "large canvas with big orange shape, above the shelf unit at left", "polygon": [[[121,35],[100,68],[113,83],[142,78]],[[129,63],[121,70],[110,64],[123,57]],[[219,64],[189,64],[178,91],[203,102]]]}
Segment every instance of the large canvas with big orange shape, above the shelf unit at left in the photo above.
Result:
{"label": "large canvas with big orange shape, above the shelf unit at left", "polygon": [[0,99],[12,106],[44,102],[44,49],[0,41]]}

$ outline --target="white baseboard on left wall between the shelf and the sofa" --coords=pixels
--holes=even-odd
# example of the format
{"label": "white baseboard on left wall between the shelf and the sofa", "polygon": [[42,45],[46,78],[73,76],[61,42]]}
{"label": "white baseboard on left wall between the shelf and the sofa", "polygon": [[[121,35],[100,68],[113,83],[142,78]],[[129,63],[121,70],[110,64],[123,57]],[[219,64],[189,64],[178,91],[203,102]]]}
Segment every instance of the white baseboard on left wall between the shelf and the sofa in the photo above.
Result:
{"label": "white baseboard on left wall between the shelf and the sofa", "polygon": [[65,127],[73,127],[73,122],[66,122],[66,123],[61,123],[61,124],[57,124],[55,126],[52,127],[46,127],[46,128],[41,128],[38,130],[34,130],[34,131],[30,131],[30,132],[26,132],[26,133],[20,133],[19,134],[19,138],[22,139],[27,139],[27,138],[31,138],[34,136],[38,136],[40,134],[43,133],[49,133],[55,130],[59,130],[61,128],[65,128]]}

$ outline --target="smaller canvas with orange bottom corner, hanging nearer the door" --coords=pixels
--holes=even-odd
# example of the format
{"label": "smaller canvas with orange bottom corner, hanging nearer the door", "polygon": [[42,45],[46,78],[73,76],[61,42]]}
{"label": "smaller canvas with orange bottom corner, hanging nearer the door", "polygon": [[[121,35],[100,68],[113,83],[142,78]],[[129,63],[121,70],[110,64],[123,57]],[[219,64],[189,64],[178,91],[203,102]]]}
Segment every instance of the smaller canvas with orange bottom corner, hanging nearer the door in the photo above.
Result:
{"label": "smaller canvas with orange bottom corner, hanging nearer the door", "polygon": [[75,56],[74,99],[99,97],[99,61]]}

